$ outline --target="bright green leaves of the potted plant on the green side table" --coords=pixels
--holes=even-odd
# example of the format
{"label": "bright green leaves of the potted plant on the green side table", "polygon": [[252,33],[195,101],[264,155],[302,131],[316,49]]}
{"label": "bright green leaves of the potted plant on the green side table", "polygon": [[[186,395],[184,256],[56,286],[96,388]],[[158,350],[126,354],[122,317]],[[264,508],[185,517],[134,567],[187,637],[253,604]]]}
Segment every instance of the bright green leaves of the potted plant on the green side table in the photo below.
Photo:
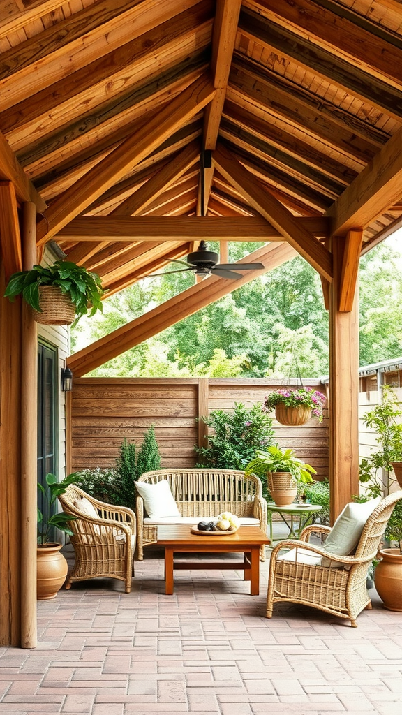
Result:
{"label": "bright green leaves of the potted plant on the green side table", "polygon": [[295,456],[293,449],[282,449],[272,445],[265,450],[257,450],[255,458],[247,464],[246,474],[256,474],[264,477],[267,472],[290,472],[297,482],[309,483],[313,481],[311,474],[315,469]]}

